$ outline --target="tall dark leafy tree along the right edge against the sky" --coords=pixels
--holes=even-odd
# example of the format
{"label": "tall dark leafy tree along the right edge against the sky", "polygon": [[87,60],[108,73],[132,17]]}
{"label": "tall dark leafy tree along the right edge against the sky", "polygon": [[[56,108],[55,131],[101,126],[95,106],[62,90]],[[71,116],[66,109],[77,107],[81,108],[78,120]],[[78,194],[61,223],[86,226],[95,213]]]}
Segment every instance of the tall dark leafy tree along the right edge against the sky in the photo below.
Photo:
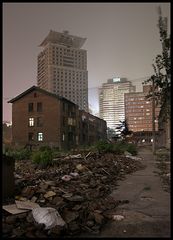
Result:
{"label": "tall dark leafy tree along the right edge against the sky", "polygon": [[168,37],[168,23],[167,17],[162,17],[161,7],[158,8],[158,28],[160,34],[160,41],[162,44],[162,53],[158,54],[155,62],[152,64],[154,74],[145,83],[154,83],[154,89],[151,89],[147,98],[152,98],[152,91],[154,91],[154,98],[156,104],[161,107],[160,116],[163,120],[170,118],[170,99],[171,99],[171,39]]}

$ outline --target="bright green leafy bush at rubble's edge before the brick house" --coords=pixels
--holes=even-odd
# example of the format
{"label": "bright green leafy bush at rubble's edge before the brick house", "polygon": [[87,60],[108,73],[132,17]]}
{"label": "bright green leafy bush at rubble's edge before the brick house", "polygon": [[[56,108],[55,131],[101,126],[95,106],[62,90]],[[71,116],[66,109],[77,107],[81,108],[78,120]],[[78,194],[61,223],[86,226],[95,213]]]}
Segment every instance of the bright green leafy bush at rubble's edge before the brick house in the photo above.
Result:
{"label": "bright green leafy bush at rubble's edge before the brick house", "polygon": [[53,154],[51,150],[37,151],[32,154],[32,162],[41,168],[52,165]]}

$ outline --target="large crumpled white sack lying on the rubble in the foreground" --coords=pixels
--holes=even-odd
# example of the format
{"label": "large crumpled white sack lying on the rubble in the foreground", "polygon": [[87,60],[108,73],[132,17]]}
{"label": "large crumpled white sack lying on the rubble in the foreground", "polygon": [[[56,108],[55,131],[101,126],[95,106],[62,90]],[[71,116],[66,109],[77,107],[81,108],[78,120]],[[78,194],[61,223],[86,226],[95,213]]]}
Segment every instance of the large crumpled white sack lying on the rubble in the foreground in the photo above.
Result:
{"label": "large crumpled white sack lying on the rubble in the foreground", "polygon": [[45,224],[45,229],[51,229],[58,226],[64,226],[66,223],[54,208],[50,207],[38,207],[32,210],[32,215],[37,223]]}

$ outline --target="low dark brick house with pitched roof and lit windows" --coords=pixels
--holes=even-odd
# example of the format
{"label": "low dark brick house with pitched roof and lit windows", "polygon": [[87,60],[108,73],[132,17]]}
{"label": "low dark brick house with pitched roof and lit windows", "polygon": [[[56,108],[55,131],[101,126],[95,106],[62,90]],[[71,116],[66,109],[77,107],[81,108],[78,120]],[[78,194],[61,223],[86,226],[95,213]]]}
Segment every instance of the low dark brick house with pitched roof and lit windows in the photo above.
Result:
{"label": "low dark brick house with pitched roof and lit windows", "polygon": [[[9,103],[12,103],[12,143],[15,146],[48,145],[70,149],[106,138],[104,120],[39,87],[32,86]],[[85,121],[84,115],[87,116]],[[90,118],[95,121],[94,127]]]}

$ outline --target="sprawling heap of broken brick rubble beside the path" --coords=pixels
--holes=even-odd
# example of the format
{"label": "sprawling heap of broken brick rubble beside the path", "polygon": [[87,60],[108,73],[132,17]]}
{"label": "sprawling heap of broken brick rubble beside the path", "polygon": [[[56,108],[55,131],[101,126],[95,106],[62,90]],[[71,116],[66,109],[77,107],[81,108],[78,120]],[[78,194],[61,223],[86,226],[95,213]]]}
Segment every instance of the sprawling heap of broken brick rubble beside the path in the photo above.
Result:
{"label": "sprawling heap of broken brick rubble beside the path", "polygon": [[[37,168],[30,160],[16,161],[16,196],[12,204],[19,209],[17,214],[3,211],[3,236],[68,237],[85,231],[97,234],[112,219],[116,207],[128,202],[110,197],[117,180],[144,167],[138,160],[113,153],[57,158],[47,169]],[[24,212],[18,213],[22,208]],[[45,227],[45,221],[49,227]]]}

